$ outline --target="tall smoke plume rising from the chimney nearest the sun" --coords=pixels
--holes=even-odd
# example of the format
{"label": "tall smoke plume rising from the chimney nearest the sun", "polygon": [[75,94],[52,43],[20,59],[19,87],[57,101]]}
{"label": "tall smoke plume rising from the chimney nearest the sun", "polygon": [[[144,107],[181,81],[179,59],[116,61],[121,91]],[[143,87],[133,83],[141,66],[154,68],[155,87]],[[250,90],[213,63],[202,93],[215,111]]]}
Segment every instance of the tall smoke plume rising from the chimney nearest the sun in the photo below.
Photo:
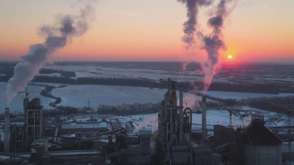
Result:
{"label": "tall smoke plume rising from the chimney nearest the sun", "polygon": [[203,49],[206,50],[208,56],[208,62],[202,65],[202,69],[205,73],[203,81],[204,92],[208,90],[213,76],[219,71],[217,67],[219,50],[226,48],[224,42],[221,39],[222,27],[224,18],[232,11],[232,9],[228,10],[226,6],[227,3],[231,1],[233,0],[220,0],[215,11],[215,16],[208,19],[208,27],[213,28],[213,32],[211,34],[203,36],[203,34],[198,33],[204,44]]}

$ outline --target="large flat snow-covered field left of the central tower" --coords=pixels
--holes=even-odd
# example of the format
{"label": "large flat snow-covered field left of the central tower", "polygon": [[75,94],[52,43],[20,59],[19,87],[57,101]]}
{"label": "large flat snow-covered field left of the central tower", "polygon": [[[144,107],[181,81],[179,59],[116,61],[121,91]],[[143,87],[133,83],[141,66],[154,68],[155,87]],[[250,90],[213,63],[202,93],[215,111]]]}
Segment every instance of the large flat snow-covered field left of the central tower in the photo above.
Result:
{"label": "large flat snow-covered field left of the central tower", "polygon": [[159,102],[166,91],[158,88],[114,85],[68,85],[54,88],[52,94],[62,98],[59,105],[93,108],[100,104],[117,105],[123,103],[148,103]]}

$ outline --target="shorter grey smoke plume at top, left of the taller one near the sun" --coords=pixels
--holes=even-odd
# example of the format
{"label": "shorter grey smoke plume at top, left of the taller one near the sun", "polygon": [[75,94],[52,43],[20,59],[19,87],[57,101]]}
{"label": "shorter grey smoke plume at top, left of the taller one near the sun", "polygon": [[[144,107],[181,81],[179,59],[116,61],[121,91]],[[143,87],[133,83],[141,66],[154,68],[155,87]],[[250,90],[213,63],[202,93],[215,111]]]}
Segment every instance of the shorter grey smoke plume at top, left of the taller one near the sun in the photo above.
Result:
{"label": "shorter grey smoke plume at top, left of the taller one near the sun", "polygon": [[199,7],[210,5],[213,0],[177,0],[186,4],[187,8],[187,21],[183,23],[184,36],[182,41],[187,44],[186,48],[189,49],[194,43],[194,34],[197,27],[197,15]]}

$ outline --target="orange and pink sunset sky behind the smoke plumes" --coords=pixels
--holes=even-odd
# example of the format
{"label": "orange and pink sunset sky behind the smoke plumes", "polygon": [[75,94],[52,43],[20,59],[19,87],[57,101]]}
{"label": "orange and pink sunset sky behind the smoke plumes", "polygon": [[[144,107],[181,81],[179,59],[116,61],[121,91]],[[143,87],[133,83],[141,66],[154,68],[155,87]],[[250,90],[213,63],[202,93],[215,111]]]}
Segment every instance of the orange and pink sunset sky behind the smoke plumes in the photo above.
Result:
{"label": "orange and pink sunset sky behind the smoke plumes", "polygon": [[[218,0],[216,0],[217,2]],[[0,0],[0,61],[17,61],[31,44],[42,43],[37,28],[58,13],[76,13],[89,1]],[[203,61],[196,45],[181,41],[186,8],[177,0],[96,0],[89,31],[54,53],[52,61]],[[225,63],[294,63],[294,0],[239,0],[225,20]],[[210,8],[201,8],[205,33]],[[226,57],[232,55],[228,60]]]}

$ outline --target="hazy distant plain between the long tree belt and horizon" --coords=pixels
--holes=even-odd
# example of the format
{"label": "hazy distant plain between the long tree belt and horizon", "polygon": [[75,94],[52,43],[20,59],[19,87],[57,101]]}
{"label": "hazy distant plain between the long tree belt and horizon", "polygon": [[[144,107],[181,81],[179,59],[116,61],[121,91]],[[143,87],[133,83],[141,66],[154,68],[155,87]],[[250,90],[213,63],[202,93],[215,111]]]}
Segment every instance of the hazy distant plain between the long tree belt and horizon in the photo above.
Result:
{"label": "hazy distant plain between the long tree belt and horizon", "polygon": [[[8,81],[13,75],[13,67],[15,64],[16,63],[1,63],[0,81]],[[54,65],[45,66],[41,71],[42,72],[38,76],[47,76],[49,78],[56,76],[58,78],[71,79],[117,78],[158,81],[160,79],[171,78],[175,81],[202,82],[204,77],[199,64],[191,63],[183,69],[181,62],[58,62]],[[224,65],[221,67],[220,72],[214,76],[213,82],[271,84],[277,86],[276,88],[281,92],[294,93],[294,66],[262,64],[238,66]],[[225,89],[224,91],[230,90]]]}

